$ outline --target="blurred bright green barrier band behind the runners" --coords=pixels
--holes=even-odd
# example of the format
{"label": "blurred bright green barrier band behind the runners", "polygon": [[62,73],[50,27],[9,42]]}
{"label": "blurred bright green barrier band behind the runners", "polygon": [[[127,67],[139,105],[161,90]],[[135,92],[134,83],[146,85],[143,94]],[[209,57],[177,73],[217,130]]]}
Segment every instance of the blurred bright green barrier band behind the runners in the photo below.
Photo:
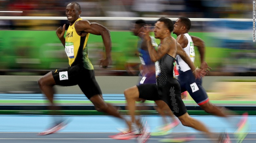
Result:
{"label": "blurred bright green barrier band behind the runners", "polygon": [[[232,49],[218,47],[211,36],[213,32],[190,32],[205,41],[205,59],[212,71],[220,71],[226,65],[248,66],[256,63],[255,58],[239,56],[243,53],[255,53],[252,49]],[[173,34],[176,38],[176,35]],[[136,56],[138,37],[130,31],[112,31],[112,67],[111,70],[125,70],[125,64],[139,63]],[[159,43],[159,41],[157,41]],[[216,47],[212,45],[217,45]],[[64,47],[55,31],[0,31],[0,70],[54,70],[68,66]],[[98,59],[103,57],[104,46],[101,36],[90,35],[88,41],[89,58],[97,69]],[[237,53],[237,54],[236,54]],[[196,54],[199,55],[198,50]],[[195,64],[200,66],[200,56]],[[232,59],[236,59],[233,61]]]}

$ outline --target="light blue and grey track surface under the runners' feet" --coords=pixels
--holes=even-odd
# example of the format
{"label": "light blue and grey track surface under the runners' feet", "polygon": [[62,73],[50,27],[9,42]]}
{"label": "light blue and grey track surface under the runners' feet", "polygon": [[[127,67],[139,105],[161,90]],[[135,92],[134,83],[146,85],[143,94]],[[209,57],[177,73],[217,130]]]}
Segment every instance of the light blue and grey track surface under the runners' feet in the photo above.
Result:
{"label": "light blue and grey track surface under the runners' feet", "polygon": [[[125,128],[123,121],[110,116],[64,116],[69,119],[69,124],[59,133],[46,136],[38,136],[38,132],[47,129],[53,122],[53,118],[47,115],[0,115],[0,142],[4,143],[136,143],[138,139],[131,140],[114,140],[109,138],[109,135],[116,134],[117,128]],[[240,119],[240,116],[234,116],[234,119],[225,120],[215,116],[192,116],[205,123],[212,132],[230,133],[232,142],[237,142],[234,138],[236,128],[235,122]],[[159,116],[144,116],[149,126],[150,132],[154,132],[155,127],[161,125]],[[249,129],[243,143],[256,142],[256,116],[248,117]],[[181,124],[174,128],[169,135],[195,135],[196,139],[189,141],[191,143],[210,143],[211,140],[205,138],[202,133],[184,127]],[[167,135],[166,135],[167,136]],[[161,139],[166,139],[166,136],[151,136],[148,143],[159,142]]]}

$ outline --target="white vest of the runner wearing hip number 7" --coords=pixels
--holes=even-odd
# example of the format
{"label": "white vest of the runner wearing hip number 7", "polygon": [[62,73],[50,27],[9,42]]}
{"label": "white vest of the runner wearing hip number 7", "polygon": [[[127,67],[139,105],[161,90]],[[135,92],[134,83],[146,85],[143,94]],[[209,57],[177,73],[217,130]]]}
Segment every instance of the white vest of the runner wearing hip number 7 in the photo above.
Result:
{"label": "white vest of the runner wearing hip number 7", "polygon": [[[183,48],[183,50],[187,53],[187,55],[190,57],[190,59],[192,60],[192,62],[195,61],[195,49],[194,49],[194,43],[192,41],[192,38],[188,35],[188,33],[184,34],[186,36],[186,38],[188,39],[188,44],[185,48]],[[190,70],[189,66],[187,65],[187,63],[181,58],[181,56],[177,55],[176,56],[176,60],[178,68],[181,71],[187,71]]]}

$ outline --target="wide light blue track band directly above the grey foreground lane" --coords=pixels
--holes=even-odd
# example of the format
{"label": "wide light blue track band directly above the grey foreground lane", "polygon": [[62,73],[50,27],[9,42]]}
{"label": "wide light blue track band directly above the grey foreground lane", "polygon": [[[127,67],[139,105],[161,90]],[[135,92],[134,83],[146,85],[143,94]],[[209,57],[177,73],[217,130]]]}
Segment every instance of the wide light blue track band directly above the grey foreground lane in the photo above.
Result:
{"label": "wide light blue track band directly above the grey foreground lane", "polygon": [[[212,132],[234,133],[235,125],[239,121],[240,116],[234,116],[230,120],[215,116],[192,116],[204,124],[206,124]],[[61,132],[118,132],[117,128],[125,128],[125,124],[120,119],[111,116],[65,116],[70,123]],[[159,116],[144,116],[147,120],[151,131],[160,126],[162,119]],[[249,116],[248,123],[250,125],[250,133],[256,133],[256,116]],[[0,116],[0,132],[42,132],[47,129],[53,118],[46,115],[1,115]],[[173,132],[198,132],[181,124],[173,130]]]}

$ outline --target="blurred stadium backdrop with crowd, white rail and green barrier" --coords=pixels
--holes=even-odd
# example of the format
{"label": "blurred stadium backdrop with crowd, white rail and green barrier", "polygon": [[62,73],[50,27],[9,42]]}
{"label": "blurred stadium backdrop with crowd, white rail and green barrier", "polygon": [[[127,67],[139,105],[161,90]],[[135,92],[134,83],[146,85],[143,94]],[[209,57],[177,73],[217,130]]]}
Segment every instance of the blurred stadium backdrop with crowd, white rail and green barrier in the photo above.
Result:
{"label": "blurred stadium backdrop with crowd, white rail and green barrier", "polygon": [[[36,84],[38,77],[50,70],[68,66],[63,46],[55,34],[57,27],[68,24],[65,18],[68,2],[70,1],[0,0],[0,92],[40,93]],[[138,39],[130,32],[131,23],[136,20],[135,18],[139,17],[147,20],[149,24],[154,24],[155,20],[150,18],[163,16],[175,21],[178,17],[185,16],[192,20],[189,34],[205,41],[206,61],[212,68],[209,74],[212,78],[204,78],[206,90],[212,93],[221,90],[219,96],[228,94],[230,98],[236,97],[233,100],[256,101],[254,99],[256,45],[252,42],[252,1],[77,0],[76,2],[81,5],[81,17],[88,18],[90,22],[100,23],[111,30],[113,61],[111,67],[106,70],[98,67],[98,59],[102,57],[104,51],[101,37],[90,35],[88,41],[89,58],[96,69],[96,76],[111,76],[111,79],[116,76],[137,78],[137,75],[129,74],[125,68],[127,63],[139,63],[139,58],[135,54]],[[11,16],[63,18],[32,20],[10,19]],[[90,20],[90,17],[96,18]],[[108,20],[104,17],[116,17],[116,19]],[[118,17],[126,19],[118,19]],[[199,62],[197,56],[195,64],[199,66]],[[139,70],[137,69],[136,72],[139,73]],[[117,83],[123,80],[114,79]],[[99,81],[103,91],[109,88],[104,81],[106,80],[102,80],[102,83]],[[132,85],[136,82],[137,80],[134,80]],[[221,83],[216,85],[216,82]],[[234,85],[230,84],[231,82],[235,82]],[[129,86],[126,84],[126,87]],[[241,93],[233,89],[239,89]],[[61,90],[58,91],[61,93]],[[110,91],[105,93],[107,92]],[[77,93],[74,91],[74,94]],[[250,96],[249,99],[245,98],[245,95]],[[214,94],[213,97],[216,95]]]}

